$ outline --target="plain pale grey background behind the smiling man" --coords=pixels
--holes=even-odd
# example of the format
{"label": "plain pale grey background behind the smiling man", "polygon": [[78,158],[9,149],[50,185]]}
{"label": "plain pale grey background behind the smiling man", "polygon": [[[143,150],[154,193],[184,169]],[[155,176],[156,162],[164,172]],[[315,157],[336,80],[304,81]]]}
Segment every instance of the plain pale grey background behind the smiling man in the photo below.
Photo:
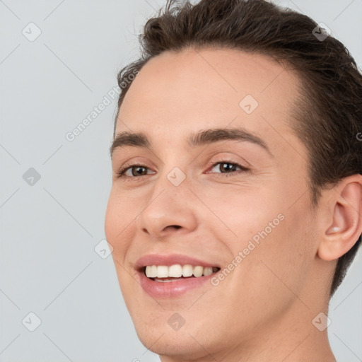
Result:
{"label": "plain pale grey background behind the smiling man", "polygon": [[[0,1],[0,361],[158,361],[136,337],[112,257],[94,250],[105,238],[115,101],[74,141],[65,136],[117,85],[141,24],[163,4]],[[327,24],[361,66],[362,0],[279,4]],[[359,252],[330,308],[338,361],[362,361],[361,284]],[[34,332],[30,312],[41,320]]]}

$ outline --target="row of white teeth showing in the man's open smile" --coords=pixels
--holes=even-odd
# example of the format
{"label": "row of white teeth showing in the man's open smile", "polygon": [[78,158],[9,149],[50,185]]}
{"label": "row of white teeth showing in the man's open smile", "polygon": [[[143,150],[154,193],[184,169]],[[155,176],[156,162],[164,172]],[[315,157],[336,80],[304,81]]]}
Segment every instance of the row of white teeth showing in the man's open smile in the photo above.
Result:
{"label": "row of white teeth showing in the man's open smile", "polygon": [[156,281],[161,281],[158,280],[158,278],[175,278],[164,280],[173,281],[177,280],[177,278],[180,278],[181,276],[184,276],[185,278],[192,275],[197,278],[203,275],[208,276],[214,272],[214,269],[212,267],[202,267],[200,265],[193,267],[191,264],[173,264],[170,265],[170,267],[165,265],[148,265],[146,267],[146,276],[148,278],[155,278]]}

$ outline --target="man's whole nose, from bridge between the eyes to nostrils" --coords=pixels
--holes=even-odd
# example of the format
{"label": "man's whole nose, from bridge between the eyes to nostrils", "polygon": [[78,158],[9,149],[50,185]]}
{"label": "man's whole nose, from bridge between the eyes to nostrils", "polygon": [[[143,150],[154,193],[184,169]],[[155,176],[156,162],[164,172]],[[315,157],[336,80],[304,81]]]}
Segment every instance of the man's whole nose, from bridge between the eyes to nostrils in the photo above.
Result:
{"label": "man's whole nose, from bridge between the eyes to nostrils", "polygon": [[165,233],[166,228],[169,230],[168,226],[194,229],[196,216],[192,209],[192,192],[187,184],[187,176],[179,167],[160,174],[137,218],[137,228],[155,236]]}

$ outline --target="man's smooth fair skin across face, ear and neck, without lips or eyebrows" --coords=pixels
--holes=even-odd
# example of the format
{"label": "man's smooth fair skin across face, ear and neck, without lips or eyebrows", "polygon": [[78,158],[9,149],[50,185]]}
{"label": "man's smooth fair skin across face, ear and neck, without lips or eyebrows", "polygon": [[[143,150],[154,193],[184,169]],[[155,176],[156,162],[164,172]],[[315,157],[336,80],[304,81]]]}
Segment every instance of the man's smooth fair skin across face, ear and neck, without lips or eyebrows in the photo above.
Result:
{"label": "man's smooth fair skin across face, ear and neck, without lips or eyebrows", "polygon": [[[327,315],[337,259],[362,232],[362,177],[325,189],[313,207],[308,154],[291,128],[299,82],[262,54],[184,49],[151,59],[124,98],[116,135],[142,132],[150,145],[113,151],[105,232],[139,339],[162,362],[335,361],[313,319]],[[259,103],[250,114],[240,107],[246,95]],[[250,141],[187,143],[201,130],[240,127],[269,151]],[[144,173],[118,177],[126,163]],[[167,177],[175,167],[186,175],[178,186]],[[182,254],[227,267],[279,214],[218,286],[158,300],[141,288],[139,257]],[[176,312],[185,320],[177,331],[168,324]]]}

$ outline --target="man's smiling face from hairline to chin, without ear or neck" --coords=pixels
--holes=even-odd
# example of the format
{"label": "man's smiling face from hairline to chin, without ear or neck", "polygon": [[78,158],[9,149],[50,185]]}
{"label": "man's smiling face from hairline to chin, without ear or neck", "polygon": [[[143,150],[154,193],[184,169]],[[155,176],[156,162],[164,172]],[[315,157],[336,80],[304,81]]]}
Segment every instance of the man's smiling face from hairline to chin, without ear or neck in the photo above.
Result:
{"label": "man's smiling face from hairline to chin, without ear or neck", "polygon": [[[216,356],[306,313],[296,296],[310,290],[317,220],[305,146],[288,125],[297,85],[262,55],[203,49],[160,54],[129,88],[116,137],[142,133],[149,144],[114,149],[105,232],[152,351]],[[217,140],[215,129],[230,134]],[[173,264],[214,273],[161,279],[180,273]],[[144,274],[152,265],[165,266],[157,280]]]}

